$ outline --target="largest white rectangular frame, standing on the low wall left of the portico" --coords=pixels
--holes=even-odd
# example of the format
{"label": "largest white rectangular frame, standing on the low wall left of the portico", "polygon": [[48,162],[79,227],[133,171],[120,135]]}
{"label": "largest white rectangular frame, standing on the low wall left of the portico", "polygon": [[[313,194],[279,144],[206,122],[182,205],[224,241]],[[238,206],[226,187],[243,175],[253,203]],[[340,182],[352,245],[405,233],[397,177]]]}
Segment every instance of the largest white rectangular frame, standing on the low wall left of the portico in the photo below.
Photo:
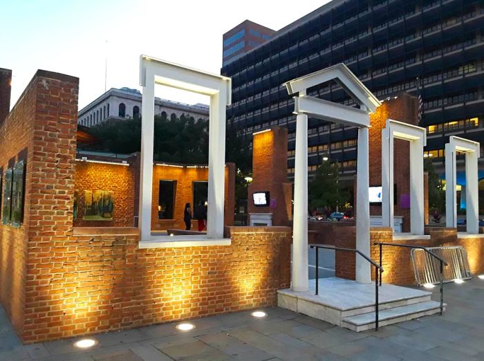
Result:
{"label": "largest white rectangular frame, standing on the low wall left of the portico", "polygon": [[[151,234],[155,84],[210,96],[206,235],[169,237]],[[231,103],[232,80],[230,77],[206,73],[141,55],[140,85],[142,86],[140,214],[138,221],[141,233],[140,248],[230,244],[230,239],[223,239],[223,207],[225,192],[225,111],[227,105]]]}

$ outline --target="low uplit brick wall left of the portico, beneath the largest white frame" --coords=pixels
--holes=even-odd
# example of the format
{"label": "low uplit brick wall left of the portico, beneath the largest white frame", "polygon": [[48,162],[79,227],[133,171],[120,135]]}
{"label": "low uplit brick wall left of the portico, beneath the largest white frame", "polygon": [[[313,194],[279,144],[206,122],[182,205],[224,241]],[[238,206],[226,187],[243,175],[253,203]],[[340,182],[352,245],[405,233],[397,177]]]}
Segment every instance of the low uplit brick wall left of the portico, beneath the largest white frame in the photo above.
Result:
{"label": "low uplit brick wall left of the portico, beneath the largest white frame", "polygon": [[290,228],[235,227],[231,246],[158,249],[139,249],[136,228],[118,230],[78,228],[46,244],[52,261],[41,262],[24,342],[275,306],[290,285]]}

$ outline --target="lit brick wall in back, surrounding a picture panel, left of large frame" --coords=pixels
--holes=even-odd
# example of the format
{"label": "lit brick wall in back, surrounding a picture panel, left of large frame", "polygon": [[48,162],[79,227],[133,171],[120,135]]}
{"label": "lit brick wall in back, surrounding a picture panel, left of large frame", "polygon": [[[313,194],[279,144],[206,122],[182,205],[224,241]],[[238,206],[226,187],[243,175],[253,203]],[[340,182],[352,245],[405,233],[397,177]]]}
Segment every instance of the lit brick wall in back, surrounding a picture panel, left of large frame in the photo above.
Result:
{"label": "lit brick wall in back, surrounding a picture panel, left of large frame", "polygon": [[[75,163],[75,190],[78,196],[75,227],[133,227],[134,165]],[[84,190],[113,192],[113,221],[84,221]]]}

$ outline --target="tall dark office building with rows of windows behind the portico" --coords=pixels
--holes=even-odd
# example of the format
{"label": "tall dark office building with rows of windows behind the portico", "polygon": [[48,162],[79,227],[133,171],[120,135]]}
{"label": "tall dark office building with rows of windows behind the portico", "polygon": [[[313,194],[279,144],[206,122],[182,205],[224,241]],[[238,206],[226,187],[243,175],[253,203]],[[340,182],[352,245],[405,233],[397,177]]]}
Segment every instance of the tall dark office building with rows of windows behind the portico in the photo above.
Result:
{"label": "tall dark office building with rows of windows behind the portico", "polygon": [[[443,157],[450,135],[484,143],[482,0],[333,0],[223,66],[221,73],[232,77],[227,122],[239,136],[287,126],[292,176],[294,101],[281,84],[341,62],[380,100],[420,93],[426,156]],[[308,95],[353,102],[337,84]],[[344,178],[353,178],[357,129],[310,119],[308,133],[308,171],[330,156]]]}

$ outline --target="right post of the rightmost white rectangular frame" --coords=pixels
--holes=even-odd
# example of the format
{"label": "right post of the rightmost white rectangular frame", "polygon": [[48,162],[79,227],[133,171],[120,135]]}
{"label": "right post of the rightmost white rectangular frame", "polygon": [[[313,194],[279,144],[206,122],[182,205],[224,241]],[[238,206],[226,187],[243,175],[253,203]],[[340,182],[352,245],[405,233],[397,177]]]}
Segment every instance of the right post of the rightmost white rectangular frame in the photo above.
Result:
{"label": "right post of the rightmost white rectangular frame", "polygon": [[477,151],[465,154],[465,201],[467,233],[479,233]]}

